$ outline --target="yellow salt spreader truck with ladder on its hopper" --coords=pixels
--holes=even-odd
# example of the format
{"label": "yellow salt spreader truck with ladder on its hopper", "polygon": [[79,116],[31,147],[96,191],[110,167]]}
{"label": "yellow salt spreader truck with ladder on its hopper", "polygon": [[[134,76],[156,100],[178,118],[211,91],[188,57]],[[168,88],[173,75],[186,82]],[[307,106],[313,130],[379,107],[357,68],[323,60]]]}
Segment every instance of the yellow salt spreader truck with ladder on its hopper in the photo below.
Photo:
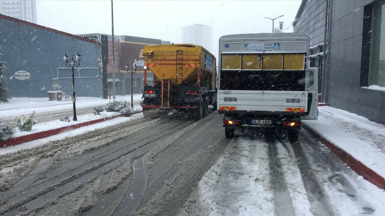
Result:
{"label": "yellow salt spreader truck with ladder on its hopper", "polygon": [[[145,85],[143,114],[156,118],[157,110],[177,110],[200,120],[208,106],[216,108],[216,59],[205,48],[192,44],[143,47]],[[154,74],[147,84],[147,70]]]}

